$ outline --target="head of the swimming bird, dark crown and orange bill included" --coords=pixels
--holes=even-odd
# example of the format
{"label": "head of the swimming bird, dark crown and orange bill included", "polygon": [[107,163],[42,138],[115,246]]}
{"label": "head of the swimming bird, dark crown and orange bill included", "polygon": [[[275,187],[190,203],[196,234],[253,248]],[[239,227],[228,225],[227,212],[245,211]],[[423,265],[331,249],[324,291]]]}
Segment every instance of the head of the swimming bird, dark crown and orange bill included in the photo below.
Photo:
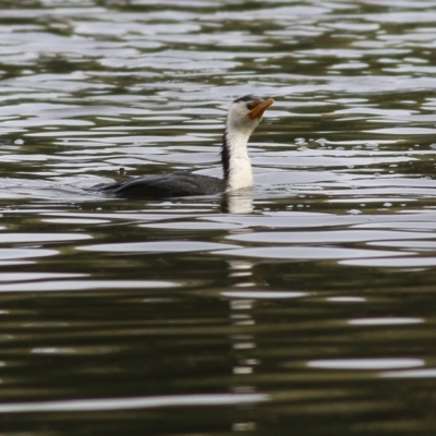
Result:
{"label": "head of the swimming bird, dark crown and orange bill included", "polygon": [[264,112],[274,104],[272,98],[267,100],[254,95],[246,95],[235,99],[229,109],[227,126],[233,131],[253,132],[261,122]]}

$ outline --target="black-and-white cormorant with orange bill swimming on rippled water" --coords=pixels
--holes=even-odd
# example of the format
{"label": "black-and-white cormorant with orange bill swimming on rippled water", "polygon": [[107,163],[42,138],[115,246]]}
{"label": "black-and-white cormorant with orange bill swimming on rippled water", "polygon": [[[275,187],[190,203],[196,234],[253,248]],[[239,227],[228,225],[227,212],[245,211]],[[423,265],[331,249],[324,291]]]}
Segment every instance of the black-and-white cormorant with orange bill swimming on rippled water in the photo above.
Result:
{"label": "black-and-white cormorant with orange bill swimming on rippled water", "polygon": [[230,106],[221,149],[223,179],[186,171],[162,172],[102,183],[93,190],[122,198],[165,198],[210,195],[253,186],[253,171],[246,146],[265,110],[272,104],[272,98],[264,100],[246,95]]}

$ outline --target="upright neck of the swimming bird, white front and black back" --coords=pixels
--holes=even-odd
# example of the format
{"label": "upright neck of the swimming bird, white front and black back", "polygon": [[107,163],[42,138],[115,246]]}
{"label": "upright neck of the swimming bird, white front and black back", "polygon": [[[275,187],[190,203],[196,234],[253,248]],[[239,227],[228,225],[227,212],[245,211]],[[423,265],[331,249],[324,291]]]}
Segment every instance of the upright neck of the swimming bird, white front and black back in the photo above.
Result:
{"label": "upright neck of the swimming bird, white front and black back", "polygon": [[222,144],[222,166],[226,191],[253,186],[253,171],[246,145],[253,129],[226,129]]}

